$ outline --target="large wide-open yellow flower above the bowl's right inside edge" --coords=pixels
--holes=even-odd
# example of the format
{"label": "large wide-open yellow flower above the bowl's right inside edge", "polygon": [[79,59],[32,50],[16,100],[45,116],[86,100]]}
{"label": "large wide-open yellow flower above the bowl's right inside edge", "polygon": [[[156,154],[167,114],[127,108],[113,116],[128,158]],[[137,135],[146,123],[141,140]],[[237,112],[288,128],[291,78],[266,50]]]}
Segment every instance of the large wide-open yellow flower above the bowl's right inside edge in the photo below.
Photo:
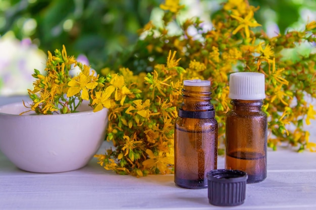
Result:
{"label": "large wide-open yellow flower above the bowl's right inside edge", "polygon": [[82,91],[81,93],[81,98],[84,100],[89,100],[89,94],[88,94],[88,89],[92,90],[97,86],[97,82],[95,81],[90,81],[87,76],[84,74],[80,73],[79,76],[74,77],[68,85],[70,88],[68,89],[67,92],[67,97],[72,97]]}

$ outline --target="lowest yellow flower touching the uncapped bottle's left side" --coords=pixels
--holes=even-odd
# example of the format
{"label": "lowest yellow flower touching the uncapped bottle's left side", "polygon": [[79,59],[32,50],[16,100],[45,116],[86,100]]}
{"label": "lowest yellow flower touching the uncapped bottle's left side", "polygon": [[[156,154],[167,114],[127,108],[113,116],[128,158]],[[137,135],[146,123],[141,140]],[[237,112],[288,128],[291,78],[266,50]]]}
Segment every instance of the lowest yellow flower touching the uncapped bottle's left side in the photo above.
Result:
{"label": "lowest yellow flower touching the uncapped bottle's left side", "polygon": [[146,153],[149,159],[143,161],[142,164],[144,167],[149,169],[155,167],[159,169],[162,174],[170,173],[168,166],[174,164],[174,158],[172,156],[168,156],[162,151],[159,151],[158,155],[155,156],[153,152],[149,149],[146,150]]}

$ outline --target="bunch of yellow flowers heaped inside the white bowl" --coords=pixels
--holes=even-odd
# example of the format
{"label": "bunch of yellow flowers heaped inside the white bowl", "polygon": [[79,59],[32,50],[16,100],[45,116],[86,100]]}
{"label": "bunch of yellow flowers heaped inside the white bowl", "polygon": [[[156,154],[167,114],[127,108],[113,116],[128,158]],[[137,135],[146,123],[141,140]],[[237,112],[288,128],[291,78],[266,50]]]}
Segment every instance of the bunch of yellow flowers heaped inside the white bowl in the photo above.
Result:
{"label": "bunch of yellow flowers heaped inside the white bowl", "polygon": [[[79,75],[71,77],[70,71],[76,66],[81,71]],[[32,76],[36,80],[33,83],[34,89],[28,90],[33,101],[29,108],[37,114],[76,112],[83,100],[92,102],[93,111],[110,108],[107,96],[111,87],[106,89],[107,93],[102,94],[104,78],[95,76],[93,71],[90,72],[90,66],[77,62],[74,56],[67,56],[64,45],[62,51],[55,50],[54,56],[48,51],[45,75],[35,69]]]}

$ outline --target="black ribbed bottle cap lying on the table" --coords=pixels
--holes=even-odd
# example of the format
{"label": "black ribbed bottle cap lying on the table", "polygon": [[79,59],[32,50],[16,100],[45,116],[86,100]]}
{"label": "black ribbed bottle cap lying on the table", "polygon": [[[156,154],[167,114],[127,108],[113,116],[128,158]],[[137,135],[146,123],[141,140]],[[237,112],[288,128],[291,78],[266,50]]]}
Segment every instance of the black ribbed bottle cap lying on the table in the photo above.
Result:
{"label": "black ribbed bottle cap lying on the table", "polygon": [[248,175],[239,170],[216,169],[207,173],[208,201],[219,206],[243,204]]}

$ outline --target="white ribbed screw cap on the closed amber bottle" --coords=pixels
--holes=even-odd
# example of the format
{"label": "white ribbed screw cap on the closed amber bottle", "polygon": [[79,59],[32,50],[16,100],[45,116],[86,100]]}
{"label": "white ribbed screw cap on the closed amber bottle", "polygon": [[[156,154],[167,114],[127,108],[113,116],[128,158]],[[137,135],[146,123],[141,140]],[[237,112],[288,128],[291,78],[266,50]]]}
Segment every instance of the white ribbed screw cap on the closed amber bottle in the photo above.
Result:
{"label": "white ribbed screw cap on the closed amber bottle", "polygon": [[254,72],[231,74],[228,97],[239,100],[265,99],[265,75]]}

